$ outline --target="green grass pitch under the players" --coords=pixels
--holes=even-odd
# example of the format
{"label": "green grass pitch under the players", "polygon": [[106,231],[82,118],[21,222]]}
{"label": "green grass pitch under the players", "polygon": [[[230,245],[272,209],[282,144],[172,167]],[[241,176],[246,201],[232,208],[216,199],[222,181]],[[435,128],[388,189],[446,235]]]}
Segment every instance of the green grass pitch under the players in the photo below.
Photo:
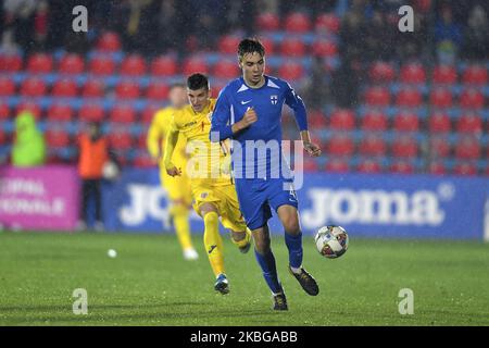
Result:
{"label": "green grass pitch under the players", "polygon": [[[0,233],[0,325],[489,325],[489,245],[351,237],[327,260],[304,237],[304,266],[321,291],[308,296],[287,272],[273,236],[288,312],[274,312],[252,250],[225,239],[230,294],[213,290],[201,235],[198,261],[184,261],[174,235]],[[115,249],[116,258],[108,250]],[[88,314],[73,313],[85,288]],[[414,313],[399,313],[399,291]]]}

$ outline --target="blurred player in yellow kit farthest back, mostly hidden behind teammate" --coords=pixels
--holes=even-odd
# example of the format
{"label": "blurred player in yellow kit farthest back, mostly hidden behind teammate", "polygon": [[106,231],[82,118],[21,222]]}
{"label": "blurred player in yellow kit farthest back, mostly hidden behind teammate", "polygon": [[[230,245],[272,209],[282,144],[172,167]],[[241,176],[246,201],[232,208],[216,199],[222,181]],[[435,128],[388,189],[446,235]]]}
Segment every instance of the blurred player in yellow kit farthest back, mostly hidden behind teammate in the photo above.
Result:
{"label": "blurred player in yellow kit farthest back, mostly hidden behind teammate", "polygon": [[[187,90],[184,84],[175,84],[170,88],[170,107],[159,110],[148,129],[148,151],[153,160],[160,165],[160,182],[168,194],[170,215],[173,219],[175,232],[184,251],[186,260],[197,260],[199,254],[192,246],[190,237],[189,210],[191,207],[190,182],[187,173],[172,177],[166,174],[163,163],[163,146],[166,130],[173,113],[187,104]],[[185,138],[178,140],[173,152],[172,161],[179,167],[187,166],[187,154],[185,152]]]}

